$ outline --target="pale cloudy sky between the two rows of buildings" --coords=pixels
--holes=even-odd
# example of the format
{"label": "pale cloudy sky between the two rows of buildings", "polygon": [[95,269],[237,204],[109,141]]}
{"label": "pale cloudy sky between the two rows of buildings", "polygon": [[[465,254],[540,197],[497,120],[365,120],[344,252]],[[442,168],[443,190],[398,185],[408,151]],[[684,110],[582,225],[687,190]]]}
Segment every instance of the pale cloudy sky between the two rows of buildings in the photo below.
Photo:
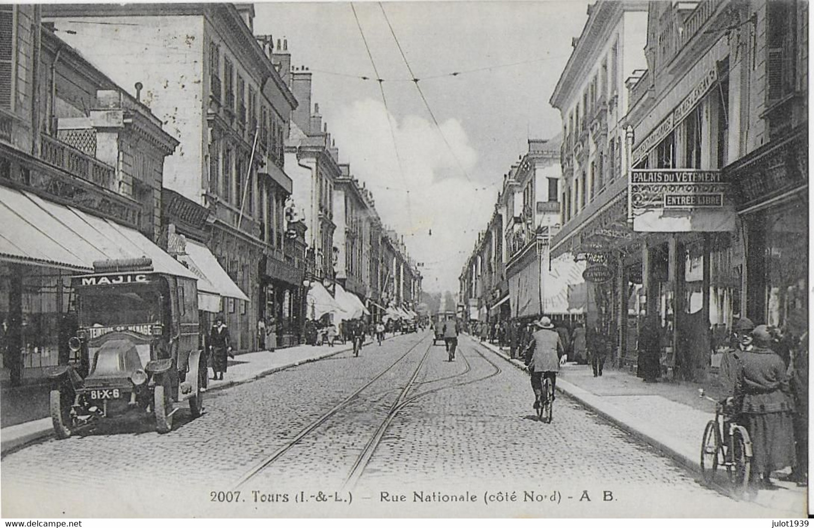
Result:
{"label": "pale cloudy sky between the two rows of buildings", "polygon": [[529,137],[562,128],[549,98],[587,2],[258,2],[255,11],[255,33],[287,39],[292,65],[313,72],[312,102],[340,163],[423,263],[423,289],[457,292],[503,175]]}

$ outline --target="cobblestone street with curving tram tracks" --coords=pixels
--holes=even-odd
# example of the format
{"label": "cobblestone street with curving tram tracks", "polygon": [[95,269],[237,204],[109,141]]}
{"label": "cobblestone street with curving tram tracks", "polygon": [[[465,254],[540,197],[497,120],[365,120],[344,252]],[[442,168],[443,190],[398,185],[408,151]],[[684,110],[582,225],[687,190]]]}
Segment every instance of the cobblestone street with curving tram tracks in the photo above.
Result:
{"label": "cobblestone street with curving tram tracks", "polygon": [[[470,338],[452,363],[429,334],[407,334],[205,402],[194,421],[179,410],[170,434],[107,425],[12,452],[4,515],[770,515],[702,487],[564,396],[552,424],[536,421],[527,374]],[[414,492],[440,499],[416,503]]]}

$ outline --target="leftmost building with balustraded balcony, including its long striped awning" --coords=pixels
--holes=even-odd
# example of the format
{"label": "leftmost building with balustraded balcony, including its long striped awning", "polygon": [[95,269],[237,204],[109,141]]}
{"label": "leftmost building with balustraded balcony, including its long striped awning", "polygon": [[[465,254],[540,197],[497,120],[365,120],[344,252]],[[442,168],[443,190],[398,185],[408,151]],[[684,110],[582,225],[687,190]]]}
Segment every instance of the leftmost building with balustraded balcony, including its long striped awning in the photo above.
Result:
{"label": "leftmost building with balustraded balcony, including its long striped awning", "polygon": [[0,7],[2,378],[78,361],[70,277],[94,260],[164,253],[164,160],[178,145],[151,109],[42,24],[39,6]]}

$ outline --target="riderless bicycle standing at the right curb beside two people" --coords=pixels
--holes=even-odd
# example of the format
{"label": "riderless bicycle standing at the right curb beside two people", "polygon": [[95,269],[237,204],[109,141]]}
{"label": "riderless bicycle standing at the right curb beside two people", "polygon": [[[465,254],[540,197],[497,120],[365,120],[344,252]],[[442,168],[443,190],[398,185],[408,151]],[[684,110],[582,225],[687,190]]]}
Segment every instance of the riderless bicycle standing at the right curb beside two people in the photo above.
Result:
{"label": "riderless bicycle standing at the right curb beside two people", "polygon": [[698,389],[698,397],[715,402],[715,419],[707,422],[701,443],[701,475],[704,482],[711,484],[718,466],[723,465],[733,495],[740,497],[749,485],[751,472],[752,442],[749,432],[746,427],[733,421],[724,420],[721,425],[721,417],[729,416],[725,399],[712,399],[704,394],[703,389]]}

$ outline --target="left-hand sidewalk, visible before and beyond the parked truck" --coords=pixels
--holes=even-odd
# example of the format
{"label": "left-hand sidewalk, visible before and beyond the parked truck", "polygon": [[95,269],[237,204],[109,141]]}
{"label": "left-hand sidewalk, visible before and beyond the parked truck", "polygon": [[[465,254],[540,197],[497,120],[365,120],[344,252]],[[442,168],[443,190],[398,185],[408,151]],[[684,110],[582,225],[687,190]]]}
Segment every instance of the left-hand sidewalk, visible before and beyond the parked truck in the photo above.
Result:
{"label": "left-hand sidewalk, visible before and beyond the parked truck", "polygon": [[[352,350],[350,342],[344,345],[337,343],[334,347],[298,345],[278,348],[274,352],[259,351],[240,354],[234,356],[234,359],[230,358],[223,381],[209,380],[208,391],[219,391],[230,386],[253,382],[282,369],[322,360],[349,350]],[[208,373],[211,376],[212,370],[210,369]],[[53,434],[54,430],[48,410],[49,391],[50,386],[47,384],[22,386],[19,387],[19,390],[8,388],[2,391],[2,395],[0,395],[3,399],[2,412],[13,408],[15,409],[13,412],[17,413],[13,417],[15,425],[0,429],[0,446],[2,446],[0,452],[2,454]],[[206,396],[204,396],[205,401]],[[20,417],[20,412],[27,412],[28,415]]]}

